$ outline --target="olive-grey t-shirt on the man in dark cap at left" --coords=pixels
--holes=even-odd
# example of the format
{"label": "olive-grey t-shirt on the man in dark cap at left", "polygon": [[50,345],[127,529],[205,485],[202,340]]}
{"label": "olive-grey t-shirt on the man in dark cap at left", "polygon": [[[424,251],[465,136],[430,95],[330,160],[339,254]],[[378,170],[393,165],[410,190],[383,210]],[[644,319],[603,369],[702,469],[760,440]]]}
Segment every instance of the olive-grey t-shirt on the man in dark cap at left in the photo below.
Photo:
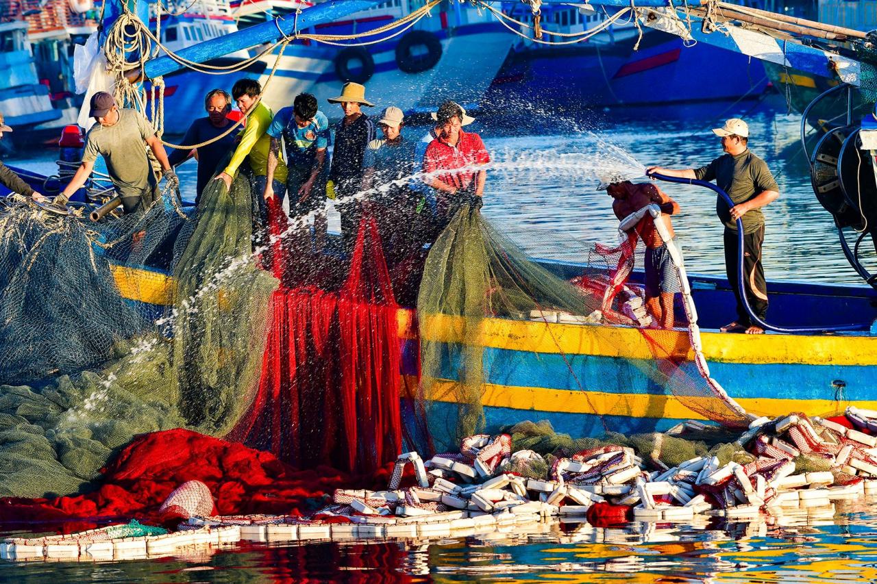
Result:
{"label": "olive-grey t-shirt on the man in dark cap at left", "polygon": [[103,156],[107,172],[120,196],[140,196],[153,187],[155,176],[146,156],[146,139],[155,134],[153,126],[137,110],[118,110],[113,125],[91,126],[85,139],[83,162]]}

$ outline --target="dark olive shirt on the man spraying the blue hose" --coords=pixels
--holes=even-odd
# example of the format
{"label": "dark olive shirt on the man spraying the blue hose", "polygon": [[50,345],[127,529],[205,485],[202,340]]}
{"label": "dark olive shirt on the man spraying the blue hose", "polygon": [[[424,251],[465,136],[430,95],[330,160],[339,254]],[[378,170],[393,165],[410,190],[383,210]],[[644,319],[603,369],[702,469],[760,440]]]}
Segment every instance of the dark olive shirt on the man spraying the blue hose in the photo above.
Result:
{"label": "dark olive shirt on the man spraying the blue hose", "polygon": [[[695,177],[699,181],[716,181],[718,188],[728,193],[734,204],[745,203],[766,190],[780,192],[766,162],[748,148],[737,156],[725,154],[705,167],[695,168]],[[721,196],[716,197],[716,214],[725,227],[737,231],[737,222],[731,219],[731,208]],[[760,209],[746,212],[742,219],[743,232],[747,234],[758,231],[765,224]]]}

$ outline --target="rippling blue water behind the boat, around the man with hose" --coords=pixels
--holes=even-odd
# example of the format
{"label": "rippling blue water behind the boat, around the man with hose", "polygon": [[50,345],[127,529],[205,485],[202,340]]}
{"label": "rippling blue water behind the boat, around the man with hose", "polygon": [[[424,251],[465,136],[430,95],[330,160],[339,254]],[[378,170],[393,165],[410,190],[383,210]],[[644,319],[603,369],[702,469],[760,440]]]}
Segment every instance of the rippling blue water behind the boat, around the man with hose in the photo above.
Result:
{"label": "rippling blue water behind the boat, around the man with hose", "polygon": [[[475,125],[490,150],[483,213],[533,256],[584,260],[585,242],[617,241],[617,220],[610,197],[597,191],[595,176],[658,164],[698,167],[722,154],[709,128],[724,118],[745,116],[752,152],[764,158],[781,187],[781,198],[764,209],[764,266],[768,278],[797,281],[859,282],[838,244],[831,216],[819,205],[809,182],[800,146],[800,118],[786,113],[781,100],[757,106],[718,104],[715,108],[677,106],[631,118],[606,111],[570,120],[551,112],[520,115],[520,121],[494,112]],[[525,113],[525,112],[524,112]],[[622,117],[624,116],[624,117]],[[470,129],[470,128],[467,128]],[[422,127],[405,134],[419,139]],[[39,172],[55,172],[53,153],[9,159]],[[195,162],[179,169],[183,196],[194,197]],[[645,180],[641,177],[640,180]],[[681,205],[674,227],[689,272],[724,274],[722,224],[715,195],[699,187],[661,183]],[[331,217],[332,219],[332,217]],[[330,229],[337,230],[337,219]],[[866,266],[873,267],[873,246],[862,246]]]}

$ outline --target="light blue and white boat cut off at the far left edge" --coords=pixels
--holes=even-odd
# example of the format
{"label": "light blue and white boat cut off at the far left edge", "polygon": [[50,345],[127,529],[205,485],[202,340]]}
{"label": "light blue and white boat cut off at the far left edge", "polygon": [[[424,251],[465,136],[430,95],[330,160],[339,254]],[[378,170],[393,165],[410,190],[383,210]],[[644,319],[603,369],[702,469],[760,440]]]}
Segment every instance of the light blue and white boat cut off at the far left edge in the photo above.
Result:
{"label": "light blue and white boat cut off at the far left edge", "polygon": [[[4,4],[5,18],[14,18],[12,3]],[[27,29],[28,24],[18,19],[0,23],[0,111],[4,123],[19,130],[61,118],[61,112],[53,108],[49,89],[37,76]],[[26,136],[13,132],[11,138]]]}

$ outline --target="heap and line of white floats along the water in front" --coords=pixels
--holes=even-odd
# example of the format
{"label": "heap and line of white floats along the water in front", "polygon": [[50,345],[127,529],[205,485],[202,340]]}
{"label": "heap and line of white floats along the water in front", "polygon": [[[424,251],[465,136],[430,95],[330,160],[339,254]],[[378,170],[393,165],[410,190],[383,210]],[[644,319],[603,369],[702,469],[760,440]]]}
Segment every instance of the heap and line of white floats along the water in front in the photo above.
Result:
{"label": "heap and line of white floats along the water in front", "polygon": [[[704,429],[697,422],[684,425],[689,431]],[[806,516],[802,509],[826,507],[833,514],[835,500],[877,493],[877,436],[871,432],[877,432],[877,411],[850,408],[835,421],[803,415],[760,418],[736,442],[752,455],[746,464],[696,457],[649,470],[630,448],[606,445],[555,459],[542,478],[524,476],[547,467],[537,452],[511,452],[508,434],[482,434],[464,439],[459,453],[428,460],[404,453],[387,490],[337,489],[332,504],[308,517],[203,516],[203,509],[212,508],[209,490],[189,481],[165,503],[191,511],[173,533],[113,537],[123,526],[112,525],[63,536],[9,538],[0,545],[0,556],[132,559],[241,540],[422,541],[495,531],[544,533],[560,523],[581,523],[594,533],[595,526],[625,522],[697,523],[710,516],[746,522],[796,511]],[[828,470],[802,472],[795,459]],[[410,486],[402,488],[403,483]],[[187,492],[201,499],[186,503],[178,495]]]}

